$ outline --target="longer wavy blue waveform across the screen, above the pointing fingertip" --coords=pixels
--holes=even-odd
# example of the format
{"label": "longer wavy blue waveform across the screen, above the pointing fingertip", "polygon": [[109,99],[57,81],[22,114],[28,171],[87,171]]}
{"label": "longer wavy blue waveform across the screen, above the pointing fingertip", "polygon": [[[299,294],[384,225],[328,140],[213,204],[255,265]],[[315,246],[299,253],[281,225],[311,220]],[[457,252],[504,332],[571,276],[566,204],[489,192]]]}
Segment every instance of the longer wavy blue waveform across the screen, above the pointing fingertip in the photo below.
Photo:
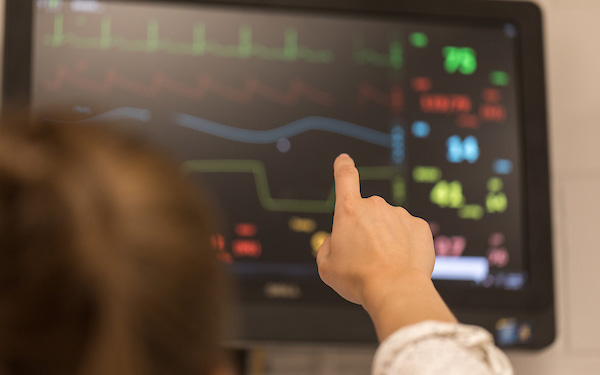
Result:
{"label": "longer wavy blue waveform across the screen, above the pointing fingertip", "polygon": [[269,130],[240,129],[184,113],[177,114],[175,121],[178,125],[189,129],[242,143],[277,143],[277,141],[282,138],[290,139],[293,136],[311,130],[345,135],[347,137],[387,148],[391,148],[392,143],[389,133],[380,132],[351,122],[319,116],[304,117],[289,124]]}

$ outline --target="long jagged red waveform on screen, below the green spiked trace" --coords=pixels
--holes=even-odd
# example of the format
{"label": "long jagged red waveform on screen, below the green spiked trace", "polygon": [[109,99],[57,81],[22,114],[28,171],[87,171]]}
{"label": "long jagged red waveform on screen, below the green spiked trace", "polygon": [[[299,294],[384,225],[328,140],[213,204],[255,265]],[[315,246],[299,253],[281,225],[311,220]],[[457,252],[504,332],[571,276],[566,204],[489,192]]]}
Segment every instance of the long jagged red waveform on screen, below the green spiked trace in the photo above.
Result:
{"label": "long jagged red waveform on screen, below the green spiked trace", "polygon": [[283,105],[298,103],[301,98],[323,106],[331,106],[334,103],[333,95],[310,87],[299,79],[293,79],[287,90],[271,87],[258,79],[249,78],[241,87],[233,87],[220,82],[208,75],[201,75],[195,86],[178,82],[164,73],[155,73],[150,84],[137,82],[126,75],[111,68],[106,71],[101,81],[84,76],[87,70],[86,62],[78,62],[74,69],[66,66],[56,71],[56,76],[45,82],[50,90],[60,90],[65,84],[71,84],[83,90],[107,95],[115,88],[128,91],[143,97],[157,97],[163,90],[189,99],[203,99],[208,93],[213,93],[223,98],[239,103],[248,103],[255,96],[261,96],[267,100]]}

